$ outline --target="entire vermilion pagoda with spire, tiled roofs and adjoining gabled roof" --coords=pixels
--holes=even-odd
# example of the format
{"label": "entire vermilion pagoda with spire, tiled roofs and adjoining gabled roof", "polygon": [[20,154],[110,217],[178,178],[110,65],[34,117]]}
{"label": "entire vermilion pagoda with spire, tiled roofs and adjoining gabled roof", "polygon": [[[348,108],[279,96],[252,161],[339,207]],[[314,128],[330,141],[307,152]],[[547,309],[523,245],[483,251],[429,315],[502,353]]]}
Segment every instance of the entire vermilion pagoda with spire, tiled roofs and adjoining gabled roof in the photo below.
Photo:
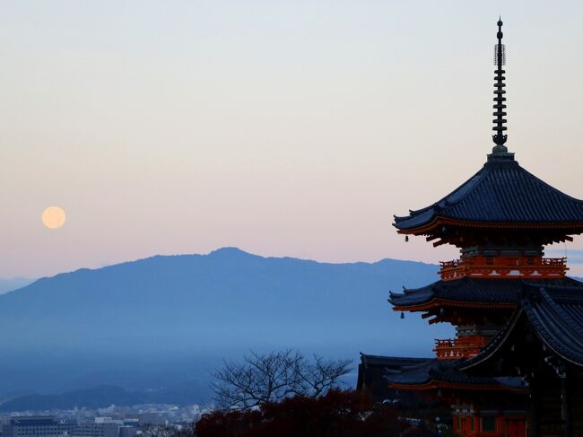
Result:
{"label": "entire vermilion pagoda with spire, tiled roofs and adjoining gabled roof", "polygon": [[361,355],[360,389],[448,406],[465,437],[583,436],[583,283],[544,247],[583,232],[583,201],[523,169],[506,146],[502,22],[495,46],[494,147],[433,205],[396,216],[400,234],[451,244],[439,281],[390,293],[393,310],[449,323],[434,358]]}

